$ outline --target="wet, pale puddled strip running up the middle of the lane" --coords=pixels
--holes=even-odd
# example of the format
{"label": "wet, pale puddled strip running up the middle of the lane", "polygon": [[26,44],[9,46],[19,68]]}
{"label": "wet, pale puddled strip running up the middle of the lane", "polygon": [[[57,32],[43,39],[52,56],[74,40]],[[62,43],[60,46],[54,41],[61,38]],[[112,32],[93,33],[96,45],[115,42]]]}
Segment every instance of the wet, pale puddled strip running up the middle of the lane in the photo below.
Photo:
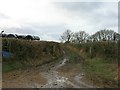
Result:
{"label": "wet, pale puddled strip running up the middle of the lane", "polygon": [[56,71],[58,68],[64,66],[66,62],[68,61],[67,57],[65,57],[62,61],[60,61],[58,64],[52,66],[52,68],[49,68],[49,70],[42,72],[41,75],[48,80],[47,84],[45,85],[36,85],[38,88],[93,88],[92,85],[87,85],[84,82],[81,82],[80,78],[82,76],[76,75],[74,77],[75,83],[68,80],[67,77],[60,76],[58,72]]}

